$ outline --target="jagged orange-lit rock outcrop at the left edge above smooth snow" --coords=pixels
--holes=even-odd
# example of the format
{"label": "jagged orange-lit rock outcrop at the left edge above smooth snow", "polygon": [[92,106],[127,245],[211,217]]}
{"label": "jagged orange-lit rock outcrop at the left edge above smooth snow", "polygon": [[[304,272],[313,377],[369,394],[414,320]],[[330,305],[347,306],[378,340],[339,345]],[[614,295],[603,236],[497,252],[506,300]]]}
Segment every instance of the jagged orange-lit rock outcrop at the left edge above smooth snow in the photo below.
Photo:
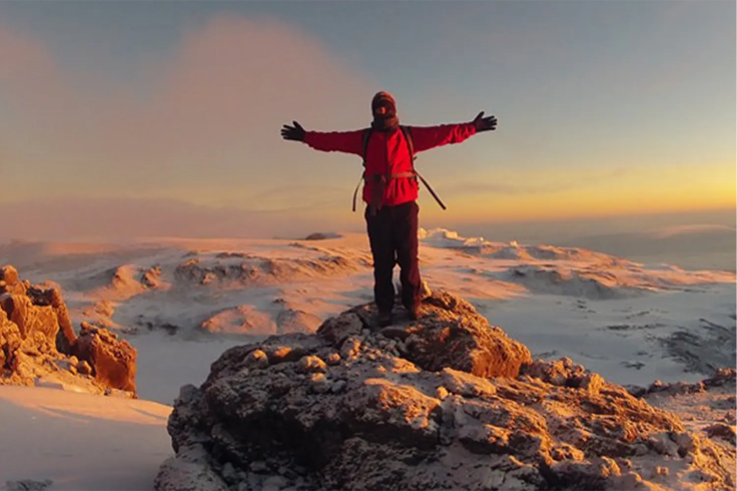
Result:
{"label": "jagged orange-lit rock outcrop at the left edge above smooth snow", "polygon": [[57,288],[21,282],[13,266],[0,271],[0,384],[135,397],[136,350],[125,339],[91,326],[78,337]]}

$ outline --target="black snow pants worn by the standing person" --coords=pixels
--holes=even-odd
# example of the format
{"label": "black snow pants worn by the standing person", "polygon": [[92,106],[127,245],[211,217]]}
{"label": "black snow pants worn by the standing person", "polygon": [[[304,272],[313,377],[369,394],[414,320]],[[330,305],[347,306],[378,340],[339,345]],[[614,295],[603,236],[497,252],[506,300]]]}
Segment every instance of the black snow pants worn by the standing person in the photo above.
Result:
{"label": "black snow pants worn by the standing person", "polygon": [[413,309],[419,301],[418,218],[419,206],[414,201],[383,206],[373,216],[366,208],[368,241],[374,256],[374,300],[380,312],[391,312],[394,307],[394,264],[400,268],[402,305]]}

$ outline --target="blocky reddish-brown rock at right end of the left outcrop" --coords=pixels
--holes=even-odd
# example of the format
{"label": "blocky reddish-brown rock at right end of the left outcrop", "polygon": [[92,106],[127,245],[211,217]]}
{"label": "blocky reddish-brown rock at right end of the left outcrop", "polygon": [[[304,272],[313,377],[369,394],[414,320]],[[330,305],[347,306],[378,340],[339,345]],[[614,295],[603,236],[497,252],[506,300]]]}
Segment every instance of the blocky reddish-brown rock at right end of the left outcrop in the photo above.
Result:
{"label": "blocky reddish-brown rock at right end of the left outcrop", "polygon": [[136,349],[105,328],[84,325],[74,348],[95,380],[111,389],[136,392]]}

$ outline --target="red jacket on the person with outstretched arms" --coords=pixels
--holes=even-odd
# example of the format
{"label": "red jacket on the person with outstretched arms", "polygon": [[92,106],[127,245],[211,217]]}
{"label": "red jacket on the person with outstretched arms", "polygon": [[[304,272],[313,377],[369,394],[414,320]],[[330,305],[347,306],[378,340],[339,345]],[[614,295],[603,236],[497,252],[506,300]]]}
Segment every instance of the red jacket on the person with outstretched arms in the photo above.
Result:
{"label": "red jacket on the person with outstretched arms", "polygon": [[[441,124],[431,127],[409,127],[415,153],[446,144],[458,144],[476,133],[473,123]],[[324,152],[346,152],[363,157],[365,130],[318,132],[308,131],[304,143]],[[366,149],[366,175],[399,174],[413,169],[402,131],[374,131]],[[371,202],[374,181],[366,180],[363,201]],[[384,190],[382,205],[394,206],[417,199],[417,181],[412,177],[391,179]]]}

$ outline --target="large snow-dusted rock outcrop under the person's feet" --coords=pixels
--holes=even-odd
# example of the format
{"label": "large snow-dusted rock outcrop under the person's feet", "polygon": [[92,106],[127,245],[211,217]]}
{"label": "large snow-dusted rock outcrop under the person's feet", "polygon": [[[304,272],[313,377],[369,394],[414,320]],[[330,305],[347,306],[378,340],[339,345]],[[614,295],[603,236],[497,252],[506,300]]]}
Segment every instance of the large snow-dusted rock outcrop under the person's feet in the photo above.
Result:
{"label": "large snow-dusted rock outcrop under the person's feet", "polygon": [[737,484],[722,464],[734,448],[570,359],[532,361],[464,300],[435,292],[421,314],[380,330],[362,305],[316,334],[227,350],[202,386],[182,387],[156,490]]}

